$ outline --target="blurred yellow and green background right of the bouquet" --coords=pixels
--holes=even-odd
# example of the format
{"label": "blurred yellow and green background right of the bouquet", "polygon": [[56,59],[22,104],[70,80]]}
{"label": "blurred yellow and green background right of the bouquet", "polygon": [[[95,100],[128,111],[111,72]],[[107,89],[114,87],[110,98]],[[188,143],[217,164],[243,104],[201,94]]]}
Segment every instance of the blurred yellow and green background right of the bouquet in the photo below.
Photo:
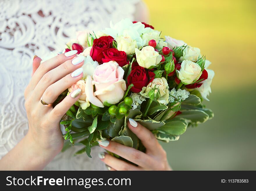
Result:
{"label": "blurred yellow and green background right of the bouquet", "polygon": [[163,143],[174,170],[256,170],[256,1],[144,0],[150,24],[199,47],[215,76],[215,117]]}

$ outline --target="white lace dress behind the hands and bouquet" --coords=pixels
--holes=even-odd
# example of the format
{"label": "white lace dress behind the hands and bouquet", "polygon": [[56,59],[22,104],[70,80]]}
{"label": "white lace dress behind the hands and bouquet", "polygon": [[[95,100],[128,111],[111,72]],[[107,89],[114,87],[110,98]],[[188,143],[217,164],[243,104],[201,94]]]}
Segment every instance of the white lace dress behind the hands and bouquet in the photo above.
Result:
{"label": "white lace dress behind the hands and bouquet", "polygon": [[[109,26],[110,20],[133,20],[137,1],[0,1],[0,158],[28,131],[23,92],[31,78],[33,56],[42,58],[49,51],[63,50],[75,31],[97,31]],[[93,148],[91,159],[86,154],[74,157],[71,148],[58,154],[45,169],[102,170],[99,151],[99,147]]]}

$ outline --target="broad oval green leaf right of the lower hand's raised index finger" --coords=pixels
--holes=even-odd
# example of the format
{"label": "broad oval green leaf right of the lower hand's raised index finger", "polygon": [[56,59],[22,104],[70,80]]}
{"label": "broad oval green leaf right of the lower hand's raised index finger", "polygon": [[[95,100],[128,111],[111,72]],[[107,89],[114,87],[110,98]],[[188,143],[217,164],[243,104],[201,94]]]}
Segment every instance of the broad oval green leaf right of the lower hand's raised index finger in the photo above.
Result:
{"label": "broad oval green leaf right of the lower hand's raised index finger", "polygon": [[188,124],[185,121],[175,119],[166,122],[165,125],[161,126],[157,130],[160,133],[165,133],[168,135],[182,135],[183,133],[185,133],[187,126]]}

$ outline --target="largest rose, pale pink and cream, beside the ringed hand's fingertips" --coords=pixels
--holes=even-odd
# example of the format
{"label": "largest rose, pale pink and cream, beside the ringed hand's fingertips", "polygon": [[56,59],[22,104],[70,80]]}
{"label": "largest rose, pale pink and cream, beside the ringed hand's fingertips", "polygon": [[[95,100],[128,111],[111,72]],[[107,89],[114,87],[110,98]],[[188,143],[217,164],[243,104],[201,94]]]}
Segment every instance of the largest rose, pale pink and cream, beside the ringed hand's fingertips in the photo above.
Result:
{"label": "largest rose, pale pink and cream, beside the ringed hand's fingertips", "polygon": [[86,79],[86,83],[95,85],[94,93],[92,92],[92,85],[90,85],[88,90],[86,89],[86,95],[90,103],[98,107],[104,107],[102,104],[104,102],[111,104],[118,103],[124,96],[126,90],[126,83],[123,76],[124,70],[115,61],[109,61],[97,66],[93,74],[93,81],[89,76]]}

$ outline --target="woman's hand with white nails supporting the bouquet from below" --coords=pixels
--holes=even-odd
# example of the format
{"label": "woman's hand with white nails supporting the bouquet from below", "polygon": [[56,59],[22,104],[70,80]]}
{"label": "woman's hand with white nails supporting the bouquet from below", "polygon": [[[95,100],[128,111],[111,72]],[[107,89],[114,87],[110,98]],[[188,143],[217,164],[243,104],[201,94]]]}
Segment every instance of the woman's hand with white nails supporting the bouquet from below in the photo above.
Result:
{"label": "woman's hand with white nails supporting the bouquet from below", "polygon": [[133,119],[129,119],[128,127],[141,140],[146,153],[113,141],[99,142],[100,147],[138,165],[129,164],[108,153],[99,153],[99,158],[109,166],[109,170],[171,170],[166,152],[154,135]]}

